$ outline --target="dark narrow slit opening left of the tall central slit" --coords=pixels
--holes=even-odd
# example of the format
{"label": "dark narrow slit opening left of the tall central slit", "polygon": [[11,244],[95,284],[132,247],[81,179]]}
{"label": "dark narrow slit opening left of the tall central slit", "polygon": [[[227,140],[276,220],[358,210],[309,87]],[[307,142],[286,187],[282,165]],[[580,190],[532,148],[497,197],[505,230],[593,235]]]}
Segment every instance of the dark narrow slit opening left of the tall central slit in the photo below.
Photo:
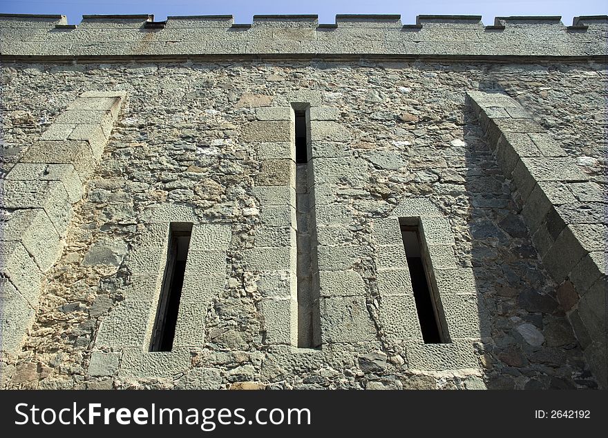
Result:
{"label": "dark narrow slit opening left of the tall central slit", "polygon": [[150,351],[171,351],[173,348],[191,235],[191,223],[171,223],[167,266],[162,277]]}

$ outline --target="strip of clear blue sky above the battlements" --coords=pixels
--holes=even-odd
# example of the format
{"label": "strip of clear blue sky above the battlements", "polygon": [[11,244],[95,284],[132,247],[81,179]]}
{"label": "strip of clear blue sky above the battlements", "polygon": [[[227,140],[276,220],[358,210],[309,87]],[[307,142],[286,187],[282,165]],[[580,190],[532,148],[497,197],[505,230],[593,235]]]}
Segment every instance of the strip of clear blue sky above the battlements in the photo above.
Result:
{"label": "strip of clear blue sky above the battlements", "polygon": [[561,15],[566,25],[578,15],[608,14],[607,0],[0,0],[0,13],[64,14],[79,23],[82,14],[234,15],[251,23],[254,14],[318,14],[320,23],[334,23],[336,14],[401,14],[403,24],[418,14],[482,15],[486,25],[508,15]]}

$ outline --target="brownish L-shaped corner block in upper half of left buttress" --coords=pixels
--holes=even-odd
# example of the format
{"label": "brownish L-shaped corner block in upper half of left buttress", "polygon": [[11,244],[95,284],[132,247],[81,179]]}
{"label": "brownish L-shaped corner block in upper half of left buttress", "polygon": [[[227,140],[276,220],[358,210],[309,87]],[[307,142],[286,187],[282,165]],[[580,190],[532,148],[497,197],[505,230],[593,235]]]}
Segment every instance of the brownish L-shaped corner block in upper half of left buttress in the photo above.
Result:
{"label": "brownish L-shaped corner block in upper half of left buttress", "polygon": [[87,141],[38,141],[21,159],[23,163],[71,164],[86,183],[95,170],[95,159]]}

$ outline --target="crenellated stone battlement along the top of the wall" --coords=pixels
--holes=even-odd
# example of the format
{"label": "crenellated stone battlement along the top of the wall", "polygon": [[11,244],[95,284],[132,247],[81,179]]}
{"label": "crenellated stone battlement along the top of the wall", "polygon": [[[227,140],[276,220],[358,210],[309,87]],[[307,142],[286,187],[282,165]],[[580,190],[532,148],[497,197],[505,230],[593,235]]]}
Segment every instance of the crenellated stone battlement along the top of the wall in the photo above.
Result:
{"label": "crenellated stone battlement along the top of the wall", "polygon": [[401,16],[254,15],[251,24],[231,15],[167,17],[152,14],[85,15],[68,25],[64,15],[0,14],[3,59],[52,57],[573,57],[604,58],[608,16],[581,16],[572,26],[561,17],[479,15]]}

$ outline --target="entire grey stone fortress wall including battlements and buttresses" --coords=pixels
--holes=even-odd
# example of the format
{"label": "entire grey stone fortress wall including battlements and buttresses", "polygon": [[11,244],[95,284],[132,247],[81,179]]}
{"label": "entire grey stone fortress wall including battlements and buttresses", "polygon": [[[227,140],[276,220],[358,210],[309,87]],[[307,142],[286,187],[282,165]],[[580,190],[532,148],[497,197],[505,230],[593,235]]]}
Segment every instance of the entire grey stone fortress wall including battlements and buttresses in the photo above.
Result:
{"label": "entire grey stone fortress wall including battlements and buttresses", "polygon": [[0,387],[608,388],[607,34],[1,14]]}

